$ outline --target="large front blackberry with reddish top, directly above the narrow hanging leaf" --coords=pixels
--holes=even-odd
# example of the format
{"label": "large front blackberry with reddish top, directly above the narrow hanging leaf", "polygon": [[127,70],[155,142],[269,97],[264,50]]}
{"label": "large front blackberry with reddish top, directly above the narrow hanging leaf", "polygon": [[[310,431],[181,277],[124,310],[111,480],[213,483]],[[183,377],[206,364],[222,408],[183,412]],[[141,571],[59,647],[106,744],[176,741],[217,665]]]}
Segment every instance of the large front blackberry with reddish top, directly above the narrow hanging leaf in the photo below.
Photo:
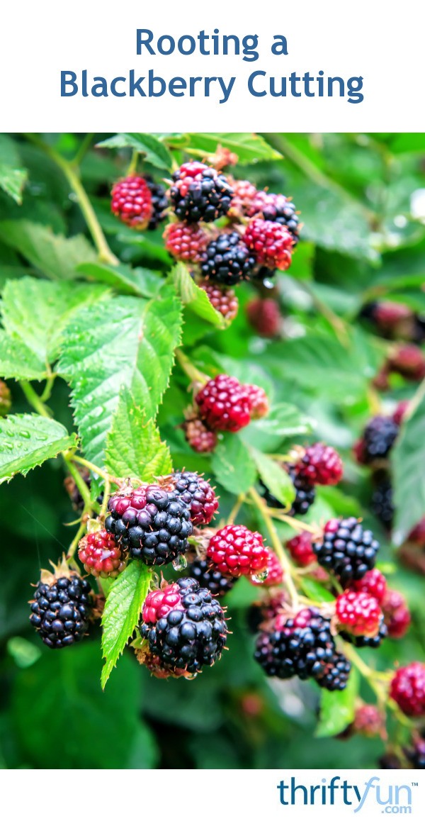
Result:
{"label": "large front blackberry with reddish top, directly above the narrow hanging leaf", "polygon": [[160,566],[189,547],[190,511],[175,490],[156,484],[125,488],[111,496],[107,509],[105,528],[118,544],[129,548],[131,558]]}

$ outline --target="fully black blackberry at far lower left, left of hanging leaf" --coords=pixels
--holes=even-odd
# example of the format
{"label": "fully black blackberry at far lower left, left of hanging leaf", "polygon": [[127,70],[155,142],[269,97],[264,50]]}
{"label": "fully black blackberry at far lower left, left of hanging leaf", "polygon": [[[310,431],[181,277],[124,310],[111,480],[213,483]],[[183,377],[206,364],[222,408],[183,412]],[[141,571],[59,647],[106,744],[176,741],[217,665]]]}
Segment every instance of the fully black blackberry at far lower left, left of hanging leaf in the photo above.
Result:
{"label": "fully black blackberry at far lower left, left of hanging leaf", "polygon": [[[66,574],[66,575],[65,575]],[[31,604],[30,622],[52,649],[80,641],[89,626],[90,586],[66,566],[42,571]]]}

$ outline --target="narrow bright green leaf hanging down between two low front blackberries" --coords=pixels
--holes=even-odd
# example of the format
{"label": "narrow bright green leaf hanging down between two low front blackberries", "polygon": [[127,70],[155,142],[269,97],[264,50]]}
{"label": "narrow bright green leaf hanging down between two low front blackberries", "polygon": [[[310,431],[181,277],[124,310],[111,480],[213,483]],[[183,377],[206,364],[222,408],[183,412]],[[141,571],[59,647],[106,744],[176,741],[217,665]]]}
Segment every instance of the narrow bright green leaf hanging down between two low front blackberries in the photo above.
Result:
{"label": "narrow bright green leaf hanging down between two low front blackberries", "polygon": [[151,568],[143,562],[130,562],[107,594],[102,617],[102,649],[106,659],[101,678],[103,688],[135,631],[151,579]]}

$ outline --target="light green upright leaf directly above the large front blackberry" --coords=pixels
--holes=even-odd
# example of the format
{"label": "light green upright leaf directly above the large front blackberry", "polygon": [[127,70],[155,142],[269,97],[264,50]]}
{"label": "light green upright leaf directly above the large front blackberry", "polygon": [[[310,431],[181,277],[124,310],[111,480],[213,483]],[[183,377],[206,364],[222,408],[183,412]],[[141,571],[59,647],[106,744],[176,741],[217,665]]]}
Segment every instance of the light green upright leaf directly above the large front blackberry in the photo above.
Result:
{"label": "light green upright leaf directly above the large front blackberry", "polygon": [[161,441],[153,422],[146,422],[128,389],[120,402],[107,436],[105,465],[112,476],[150,482],[155,476],[171,473],[170,451]]}

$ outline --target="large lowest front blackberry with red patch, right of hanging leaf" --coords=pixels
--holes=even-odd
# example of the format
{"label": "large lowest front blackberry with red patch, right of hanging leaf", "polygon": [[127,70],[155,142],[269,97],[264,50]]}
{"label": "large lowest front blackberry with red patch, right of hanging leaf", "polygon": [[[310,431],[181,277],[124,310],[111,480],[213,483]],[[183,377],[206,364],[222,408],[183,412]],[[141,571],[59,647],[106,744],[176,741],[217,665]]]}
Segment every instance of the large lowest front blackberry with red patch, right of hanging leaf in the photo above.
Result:
{"label": "large lowest front blackberry with red patch, right of hanging leaf", "polygon": [[197,673],[221,657],[227,626],[217,599],[185,578],[148,594],[139,631],[165,667]]}

